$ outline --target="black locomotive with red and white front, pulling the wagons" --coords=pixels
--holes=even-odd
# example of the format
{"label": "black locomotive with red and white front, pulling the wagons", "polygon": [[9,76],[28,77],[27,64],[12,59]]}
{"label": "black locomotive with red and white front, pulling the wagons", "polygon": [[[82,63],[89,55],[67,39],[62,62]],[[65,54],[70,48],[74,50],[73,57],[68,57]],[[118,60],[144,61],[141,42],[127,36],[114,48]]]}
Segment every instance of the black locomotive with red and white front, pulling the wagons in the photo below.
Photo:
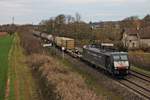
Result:
{"label": "black locomotive with red and white front, pulling the wagons", "polygon": [[130,63],[127,52],[111,51],[89,45],[83,48],[82,59],[115,76],[126,76],[129,73]]}

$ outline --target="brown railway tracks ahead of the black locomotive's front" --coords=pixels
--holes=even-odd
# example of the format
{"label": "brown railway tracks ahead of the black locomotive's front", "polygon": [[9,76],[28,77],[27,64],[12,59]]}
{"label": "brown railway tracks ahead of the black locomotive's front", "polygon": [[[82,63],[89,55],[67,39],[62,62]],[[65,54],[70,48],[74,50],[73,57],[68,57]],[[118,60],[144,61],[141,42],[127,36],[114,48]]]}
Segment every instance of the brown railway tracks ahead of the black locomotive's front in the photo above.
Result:
{"label": "brown railway tracks ahead of the black locomotive's front", "polygon": [[130,71],[130,75],[130,78],[120,80],[119,83],[150,100],[150,76],[133,70]]}

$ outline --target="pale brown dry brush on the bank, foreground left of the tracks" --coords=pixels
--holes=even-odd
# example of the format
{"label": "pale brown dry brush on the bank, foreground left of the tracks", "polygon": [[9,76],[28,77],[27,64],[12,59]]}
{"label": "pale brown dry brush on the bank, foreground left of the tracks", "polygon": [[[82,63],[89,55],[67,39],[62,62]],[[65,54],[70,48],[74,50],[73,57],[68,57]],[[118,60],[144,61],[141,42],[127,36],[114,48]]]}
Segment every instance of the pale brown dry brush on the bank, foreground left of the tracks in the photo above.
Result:
{"label": "pale brown dry brush on the bank, foreground left of the tracks", "polygon": [[[72,72],[56,59],[39,54],[29,57],[28,63],[45,80],[46,88],[53,89],[56,100],[101,100],[90,90],[85,79]],[[52,87],[53,86],[53,87]],[[49,92],[46,92],[49,94]],[[52,96],[52,94],[49,94]]]}

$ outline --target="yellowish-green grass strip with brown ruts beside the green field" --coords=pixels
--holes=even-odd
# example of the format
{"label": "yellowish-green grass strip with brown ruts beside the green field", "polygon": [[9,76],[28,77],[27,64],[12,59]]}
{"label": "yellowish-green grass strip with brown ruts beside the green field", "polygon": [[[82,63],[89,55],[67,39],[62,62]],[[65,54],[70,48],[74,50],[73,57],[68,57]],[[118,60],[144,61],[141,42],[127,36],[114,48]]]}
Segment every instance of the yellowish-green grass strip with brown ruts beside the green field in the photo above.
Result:
{"label": "yellowish-green grass strip with brown ruts beside the green field", "polygon": [[6,100],[41,100],[38,85],[25,60],[26,56],[20,46],[19,37],[16,35],[11,48]]}

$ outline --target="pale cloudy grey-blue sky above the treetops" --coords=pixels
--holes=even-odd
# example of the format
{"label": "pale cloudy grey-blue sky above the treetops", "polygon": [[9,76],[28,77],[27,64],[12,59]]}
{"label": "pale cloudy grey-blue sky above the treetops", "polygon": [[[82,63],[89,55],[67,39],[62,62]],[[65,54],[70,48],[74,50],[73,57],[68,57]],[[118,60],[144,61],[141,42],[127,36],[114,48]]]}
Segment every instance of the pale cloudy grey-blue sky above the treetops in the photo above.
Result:
{"label": "pale cloudy grey-blue sky above the treetops", "polygon": [[0,0],[0,24],[38,24],[59,14],[83,21],[116,21],[150,14],[150,0]]}

